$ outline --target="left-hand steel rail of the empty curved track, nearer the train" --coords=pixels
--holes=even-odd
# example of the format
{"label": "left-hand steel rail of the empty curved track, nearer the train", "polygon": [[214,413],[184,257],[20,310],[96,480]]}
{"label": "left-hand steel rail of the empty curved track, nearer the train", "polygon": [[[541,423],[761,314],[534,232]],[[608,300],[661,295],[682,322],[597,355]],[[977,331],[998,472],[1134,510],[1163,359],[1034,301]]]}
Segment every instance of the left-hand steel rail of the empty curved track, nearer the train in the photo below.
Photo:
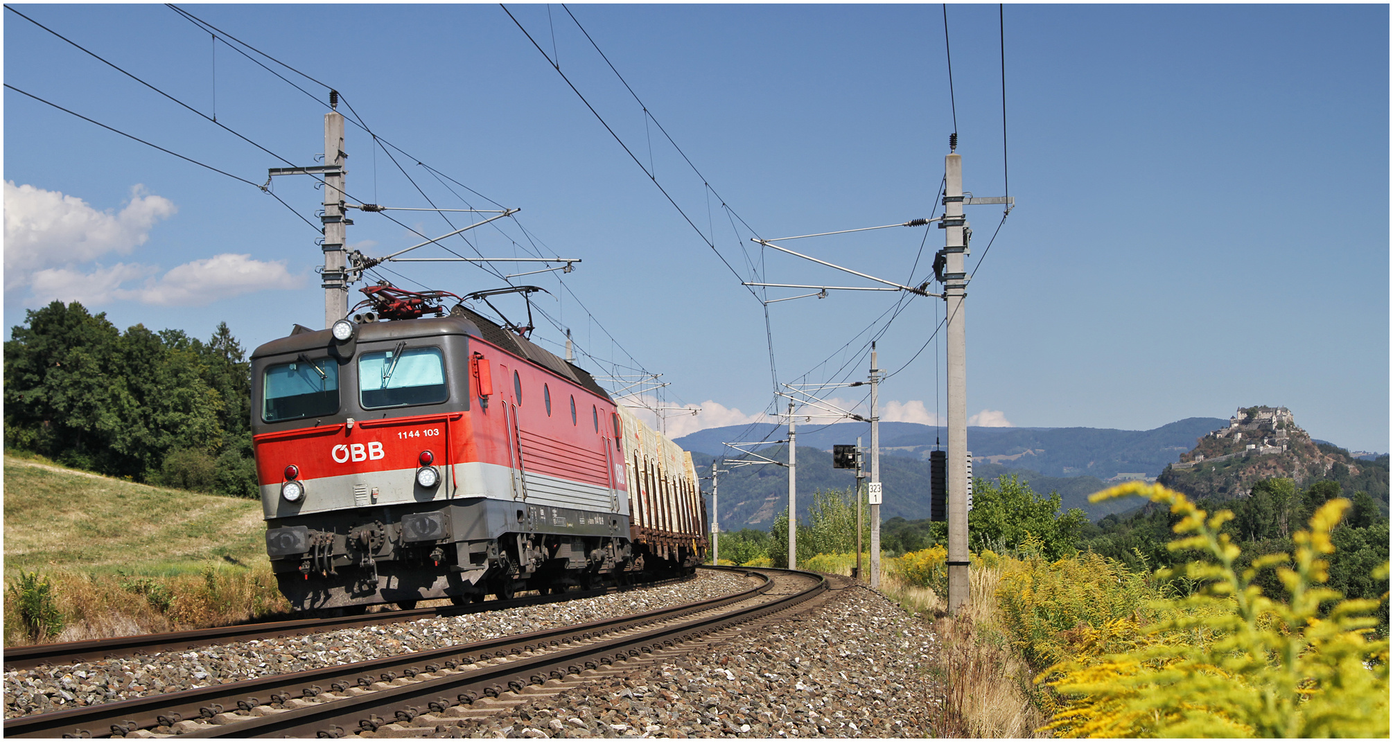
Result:
{"label": "left-hand steel rail of the empty curved track, nearer the train", "polygon": [[[589,624],[575,626],[500,636],[483,642],[454,645],[449,647],[414,652],[410,654],[393,654],[390,657],[380,657],[361,663],[304,670],[286,675],[252,678],[247,681],[180,690],[176,693],[143,696],[111,703],[99,703],[96,706],[86,706],[81,709],[68,709],[47,714],[10,718],[4,723],[4,736],[110,736],[113,732],[120,732],[120,735],[124,736],[127,732],[138,728],[153,728],[162,725],[163,721],[160,717],[164,717],[166,720],[210,718],[223,710],[235,711],[238,709],[249,709],[256,704],[286,703],[295,697],[305,697],[306,695],[315,696],[319,692],[334,688],[336,682],[341,689],[347,690],[347,688],[371,685],[382,677],[394,678],[401,675],[410,677],[422,671],[433,672],[435,670],[430,668],[432,665],[439,670],[439,667],[450,667],[451,663],[471,664],[475,658],[485,660],[488,657],[514,656],[524,652],[535,652],[545,646],[560,646],[566,642],[591,640],[598,635],[625,631],[637,625],[673,619],[691,613],[708,611],[730,603],[748,600],[758,594],[763,594],[773,586],[773,582],[765,575],[745,569],[736,571],[752,576],[762,576],[765,578],[765,582],[740,593],[717,596],[696,603],[659,608],[641,614],[592,621]],[[508,664],[511,665],[513,663]],[[276,716],[284,716],[286,713],[290,711]]]}

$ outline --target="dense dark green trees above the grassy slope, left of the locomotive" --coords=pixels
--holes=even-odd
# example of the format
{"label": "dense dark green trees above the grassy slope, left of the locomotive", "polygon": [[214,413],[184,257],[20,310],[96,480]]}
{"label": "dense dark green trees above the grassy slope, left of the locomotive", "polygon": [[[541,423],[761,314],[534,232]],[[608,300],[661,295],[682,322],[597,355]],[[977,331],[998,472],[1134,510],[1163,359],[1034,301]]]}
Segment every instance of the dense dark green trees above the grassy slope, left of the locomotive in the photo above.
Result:
{"label": "dense dark green trees above the grassy slope, left of the locomotive", "polygon": [[134,482],[256,497],[251,372],[220,323],[208,341],[117,330],[78,302],[25,312],[4,344],[4,444]]}

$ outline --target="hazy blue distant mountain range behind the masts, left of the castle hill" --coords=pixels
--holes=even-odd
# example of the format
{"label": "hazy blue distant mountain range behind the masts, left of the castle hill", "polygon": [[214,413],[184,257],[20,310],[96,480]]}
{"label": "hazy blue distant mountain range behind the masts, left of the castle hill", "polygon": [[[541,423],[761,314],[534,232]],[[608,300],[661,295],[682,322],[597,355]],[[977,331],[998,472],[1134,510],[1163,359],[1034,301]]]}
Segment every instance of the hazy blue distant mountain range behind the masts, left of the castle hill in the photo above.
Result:
{"label": "hazy blue distant mountain range behind the masts, left of the castle hill", "polygon": [[[1188,418],[1155,430],[1112,430],[1095,427],[968,427],[972,473],[996,479],[1015,473],[1035,491],[1057,491],[1063,507],[1082,508],[1092,519],[1123,512],[1141,501],[1109,501],[1094,505],[1088,496],[1107,487],[1107,479],[1155,477],[1167,465],[1190,451],[1201,436],[1226,427],[1219,418]],[[818,490],[851,487],[853,472],[832,468],[832,447],[871,444],[868,423],[807,426],[798,434],[798,505],[807,516],[812,494]],[[692,452],[702,476],[710,475],[717,457],[740,458],[724,441],[780,441],[786,426],[762,423],[701,430],[677,439]],[[880,480],[885,484],[883,519],[929,516],[929,452],[935,439],[947,443],[947,430],[919,423],[880,423]],[[762,455],[787,461],[783,443],[758,448]],[[775,465],[741,466],[720,476],[720,526],[768,529],[788,501],[787,469]],[[703,490],[710,484],[703,483]]]}

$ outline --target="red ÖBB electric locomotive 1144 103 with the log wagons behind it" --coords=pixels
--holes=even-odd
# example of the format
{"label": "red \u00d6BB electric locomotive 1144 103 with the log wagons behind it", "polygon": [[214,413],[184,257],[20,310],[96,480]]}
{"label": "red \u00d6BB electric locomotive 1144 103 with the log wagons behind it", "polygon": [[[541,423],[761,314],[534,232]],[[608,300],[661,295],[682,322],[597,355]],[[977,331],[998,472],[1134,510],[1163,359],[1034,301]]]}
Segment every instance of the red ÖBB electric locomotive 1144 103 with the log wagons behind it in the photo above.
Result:
{"label": "red \u00d6BB electric locomotive 1144 103 with the log wagons behind it", "polygon": [[378,312],[252,354],[266,551],[295,608],[482,601],[705,558],[691,457],[589,373],[525,327],[446,313],[443,292],[364,292]]}

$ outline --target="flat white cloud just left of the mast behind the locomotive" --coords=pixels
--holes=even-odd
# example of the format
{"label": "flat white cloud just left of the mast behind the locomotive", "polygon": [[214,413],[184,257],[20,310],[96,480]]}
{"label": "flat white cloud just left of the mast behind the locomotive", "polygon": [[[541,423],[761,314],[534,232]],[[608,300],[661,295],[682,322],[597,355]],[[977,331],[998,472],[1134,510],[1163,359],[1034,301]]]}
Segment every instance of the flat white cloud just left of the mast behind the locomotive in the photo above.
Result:
{"label": "flat white cloud just left of the mast behind the locomotive", "polygon": [[149,280],[142,288],[116,295],[162,306],[202,306],[254,291],[301,285],[304,277],[291,276],[284,260],[265,262],[251,255],[224,252],[176,266],[157,281]]}

